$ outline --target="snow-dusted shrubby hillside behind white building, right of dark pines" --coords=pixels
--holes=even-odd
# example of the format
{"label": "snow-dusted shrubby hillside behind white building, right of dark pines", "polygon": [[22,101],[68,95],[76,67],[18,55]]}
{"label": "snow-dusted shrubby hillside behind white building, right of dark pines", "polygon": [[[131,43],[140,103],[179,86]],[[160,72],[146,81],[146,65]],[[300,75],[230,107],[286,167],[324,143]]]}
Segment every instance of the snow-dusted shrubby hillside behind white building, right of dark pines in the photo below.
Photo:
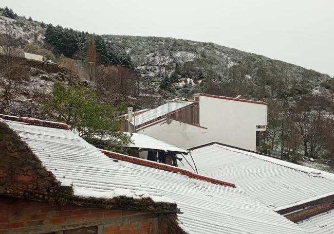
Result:
{"label": "snow-dusted shrubby hillside behind white building, right of dark pines", "polygon": [[[157,91],[164,80],[166,83],[173,83],[172,88],[176,89],[176,93],[182,92],[182,86],[189,86],[189,83],[190,86],[198,86],[204,78],[215,80],[218,84],[230,82],[231,67],[237,67],[238,72],[242,73],[240,76],[245,80],[244,84],[255,86],[259,85],[257,77],[260,68],[266,70],[265,76],[268,77],[271,71],[280,76],[277,79],[281,79],[284,76],[282,74],[285,74],[288,76],[286,85],[290,88],[295,83],[300,86],[298,88],[308,91],[315,88],[325,92],[320,84],[330,80],[328,75],[316,71],[214,43],[122,35],[103,37],[129,53],[135,67],[144,78],[147,90]],[[193,82],[189,82],[190,79]],[[262,82],[262,85],[272,84]],[[197,87],[198,91],[201,91],[201,88]]]}

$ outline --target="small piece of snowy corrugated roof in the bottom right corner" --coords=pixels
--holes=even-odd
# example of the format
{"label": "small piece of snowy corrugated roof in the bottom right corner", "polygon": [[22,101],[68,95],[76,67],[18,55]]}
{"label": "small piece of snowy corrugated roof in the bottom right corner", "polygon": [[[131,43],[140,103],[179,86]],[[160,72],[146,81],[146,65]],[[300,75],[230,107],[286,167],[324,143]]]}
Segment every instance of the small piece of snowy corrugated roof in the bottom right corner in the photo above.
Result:
{"label": "small piece of snowy corrugated roof in the bottom right corner", "polygon": [[313,234],[334,233],[334,210],[313,216],[298,225]]}

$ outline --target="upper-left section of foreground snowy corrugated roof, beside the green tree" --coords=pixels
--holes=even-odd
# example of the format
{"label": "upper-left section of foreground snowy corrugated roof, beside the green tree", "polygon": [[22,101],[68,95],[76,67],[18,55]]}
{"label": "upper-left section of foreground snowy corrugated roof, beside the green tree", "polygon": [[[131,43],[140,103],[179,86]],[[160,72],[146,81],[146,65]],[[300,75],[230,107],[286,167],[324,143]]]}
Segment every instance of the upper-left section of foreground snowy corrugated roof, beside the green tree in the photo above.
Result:
{"label": "upper-left section of foreground snowy corrugated roof, beside the green tree", "polygon": [[120,167],[116,161],[69,130],[6,122],[28,143],[62,185],[73,186],[75,195],[105,197],[131,194],[139,198],[136,192],[144,190],[150,196],[162,196],[131,171]]}

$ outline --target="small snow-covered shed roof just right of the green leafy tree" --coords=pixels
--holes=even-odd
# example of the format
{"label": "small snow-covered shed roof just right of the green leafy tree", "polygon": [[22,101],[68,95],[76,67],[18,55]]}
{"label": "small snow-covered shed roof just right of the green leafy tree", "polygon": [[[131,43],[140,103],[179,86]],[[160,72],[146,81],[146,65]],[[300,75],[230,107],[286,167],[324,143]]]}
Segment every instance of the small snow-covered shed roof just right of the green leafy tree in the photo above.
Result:
{"label": "small snow-covered shed roof just right of the green leafy tree", "polygon": [[177,146],[170,145],[164,141],[158,140],[151,136],[147,136],[141,133],[126,133],[131,136],[133,143],[128,147],[133,148],[142,148],[142,149],[151,149],[151,150],[162,150],[162,151],[174,151],[179,153],[190,152],[179,148]]}

